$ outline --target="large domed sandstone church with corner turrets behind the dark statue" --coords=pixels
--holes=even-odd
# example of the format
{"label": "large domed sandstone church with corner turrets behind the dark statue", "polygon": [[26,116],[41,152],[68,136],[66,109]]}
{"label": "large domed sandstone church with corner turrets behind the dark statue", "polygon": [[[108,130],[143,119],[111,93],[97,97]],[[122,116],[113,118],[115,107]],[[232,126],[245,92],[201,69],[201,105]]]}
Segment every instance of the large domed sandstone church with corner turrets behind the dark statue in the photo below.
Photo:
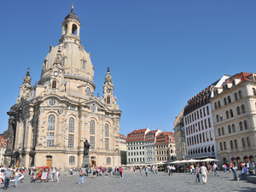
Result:
{"label": "large domed sandstone church with corner turrets behind the dark statue", "polygon": [[4,164],[80,167],[87,139],[91,165],[120,166],[121,111],[109,67],[103,96],[94,96],[94,67],[81,44],[81,23],[73,8],[61,25],[59,44],[49,47],[41,79],[32,86],[28,68],[20,96],[8,112]]}

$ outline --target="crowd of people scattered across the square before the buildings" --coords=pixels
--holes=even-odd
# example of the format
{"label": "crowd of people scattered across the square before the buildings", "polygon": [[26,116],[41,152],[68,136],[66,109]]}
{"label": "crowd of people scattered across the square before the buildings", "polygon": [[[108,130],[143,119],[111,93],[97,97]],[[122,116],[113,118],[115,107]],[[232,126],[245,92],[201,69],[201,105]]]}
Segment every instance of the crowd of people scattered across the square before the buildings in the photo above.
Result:
{"label": "crowd of people scattered across the square before the buildings", "polygon": [[[169,176],[171,176],[174,172],[177,171],[177,165],[167,165],[167,166],[131,166],[130,170],[131,172],[136,172],[136,169],[139,170],[140,174],[142,175],[143,172],[145,172],[146,177],[148,177],[148,172],[152,172],[153,174],[157,174],[159,169],[164,169],[165,172],[168,173]],[[207,175],[210,173],[214,174],[214,176],[218,177],[218,171],[220,169],[223,169],[224,172],[233,172],[234,177],[237,175],[237,169],[241,170],[241,174],[249,174],[249,172],[253,173],[255,169],[254,163],[248,163],[248,162],[241,162],[238,167],[236,166],[236,163],[234,162],[227,162],[223,165],[217,164],[216,162],[208,163],[207,165],[205,163],[201,163],[201,166],[198,163],[190,164],[189,165],[189,173],[191,175],[195,175],[195,183],[202,183],[207,184]],[[75,171],[79,171],[79,184],[84,184],[84,176],[89,177],[98,177],[98,176],[119,176],[121,178],[124,177],[124,170],[121,166],[114,166],[114,167],[102,167],[102,166],[89,166],[85,169],[79,169],[78,167],[75,169]],[[179,170],[180,171],[180,170]],[[4,188],[3,189],[9,189],[9,181],[10,179],[15,179],[15,188],[17,188],[17,182],[19,180],[20,175],[23,177],[31,176],[31,182],[36,182],[37,180],[41,179],[41,175],[38,172],[38,169],[29,168],[26,169],[26,167],[10,167],[9,168],[2,168],[1,172],[3,173],[3,180],[4,180]],[[51,167],[49,170],[44,170],[43,172],[48,172],[47,179],[49,181],[56,181],[59,182],[60,179],[60,172],[61,167],[57,169],[56,167]],[[73,169],[70,169],[70,173],[73,174]],[[40,177],[40,178],[39,178]]]}

